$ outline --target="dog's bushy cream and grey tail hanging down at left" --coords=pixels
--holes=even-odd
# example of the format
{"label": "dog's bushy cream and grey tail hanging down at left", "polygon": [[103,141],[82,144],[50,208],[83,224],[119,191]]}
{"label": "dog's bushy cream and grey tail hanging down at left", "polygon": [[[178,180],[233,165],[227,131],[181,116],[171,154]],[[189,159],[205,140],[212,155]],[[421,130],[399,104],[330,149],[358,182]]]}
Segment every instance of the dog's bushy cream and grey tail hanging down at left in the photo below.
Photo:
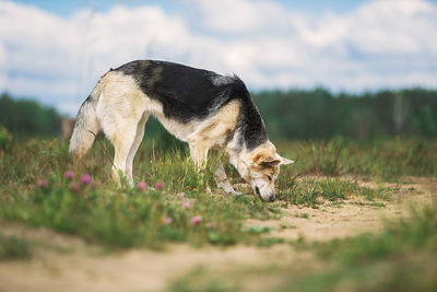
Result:
{"label": "dog's bushy cream and grey tail hanging down at left", "polygon": [[70,155],[79,161],[94,142],[95,136],[101,130],[96,107],[101,96],[101,82],[94,87],[90,96],[79,108],[74,130],[70,140]]}

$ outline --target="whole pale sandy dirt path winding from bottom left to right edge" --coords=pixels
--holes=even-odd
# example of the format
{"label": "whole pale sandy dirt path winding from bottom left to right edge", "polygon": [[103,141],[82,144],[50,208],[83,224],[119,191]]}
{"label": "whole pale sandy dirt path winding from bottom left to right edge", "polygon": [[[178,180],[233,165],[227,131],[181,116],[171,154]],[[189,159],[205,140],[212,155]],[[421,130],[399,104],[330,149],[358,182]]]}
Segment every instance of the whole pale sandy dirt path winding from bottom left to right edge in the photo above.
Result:
{"label": "whole pale sandy dirt path winding from bottom left to right edge", "polygon": [[[361,198],[339,207],[319,209],[290,207],[280,220],[249,220],[247,225],[271,226],[269,236],[286,241],[305,237],[326,241],[367,231],[378,231],[383,220],[408,217],[412,203],[427,203],[437,198],[437,179],[412,178],[397,186],[398,191],[386,207],[366,205]],[[165,252],[130,249],[105,253],[74,236],[46,229],[29,229],[0,221],[3,234],[16,234],[35,242],[34,256],[23,261],[0,261],[0,291],[163,291],[168,282],[196,267],[235,269],[290,265],[308,255],[290,244],[268,248],[234,246],[193,248],[169,245]]]}

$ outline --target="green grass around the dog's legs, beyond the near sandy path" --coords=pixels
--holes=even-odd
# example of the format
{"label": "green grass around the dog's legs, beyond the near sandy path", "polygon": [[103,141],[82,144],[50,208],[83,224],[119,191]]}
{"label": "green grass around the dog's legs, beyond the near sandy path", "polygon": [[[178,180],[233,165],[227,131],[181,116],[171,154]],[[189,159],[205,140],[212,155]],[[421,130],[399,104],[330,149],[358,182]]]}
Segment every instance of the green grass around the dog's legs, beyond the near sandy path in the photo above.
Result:
{"label": "green grass around the dog's legs, beyond the near sandy path", "polygon": [[[165,187],[162,191],[152,188],[141,191],[127,186],[120,189],[111,183],[114,150],[105,139],[97,139],[85,159],[73,168],[66,143],[56,139],[17,140],[8,137],[0,148],[0,218],[121,247],[162,248],[166,242],[194,245],[258,242],[259,245],[269,245],[276,240],[265,240],[258,233],[248,232],[246,219],[279,218],[281,207],[290,205],[317,208],[320,203],[332,202],[340,206],[342,200],[355,196],[369,201],[388,199],[390,190],[367,188],[354,179],[335,177],[344,173],[359,174],[359,170],[365,170],[361,173],[365,176],[379,174],[379,171],[373,171],[379,166],[365,168],[362,165],[365,161],[371,165],[370,160],[380,165],[381,162],[374,161],[381,153],[391,153],[393,165],[401,162],[392,160],[392,156],[402,156],[405,161],[406,155],[406,162],[402,162],[400,171],[391,173],[390,177],[403,174],[403,171],[406,175],[430,175],[435,171],[433,165],[437,165],[433,164],[436,155],[432,142],[406,142],[399,150],[394,147],[395,141],[367,148],[341,139],[282,144],[281,153],[296,159],[297,163],[282,168],[277,201],[263,203],[252,195],[238,198],[211,196],[209,188],[214,194],[220,192],[210,171],[213,167],[201,175],[196,174],[187,148],[161,151],[154,149],[153,143],[142,144],[134,162],[135,178],[151,187],[156,182],[164,182]],[[423,167],[422,162],[427,166]],[[210,166],[215,163],[216,159],[212,159]],[[233,183],[243,183],[233,167],[226,167]],[[64,177],[68,170],[75,173],[73,182]],[[84,173],[92,175],[93,183],[74,190]],[[305,176],[317,173],[331,177]],[[47,182],[46,187],[37,186],[40,179]],[[184,207],[186,201],[191,202],[190,208]],[[197,215],[202,218],[202,222],[192,224],[191,219]],[[166,223],[166,220],[172,220],[172,223]]]}

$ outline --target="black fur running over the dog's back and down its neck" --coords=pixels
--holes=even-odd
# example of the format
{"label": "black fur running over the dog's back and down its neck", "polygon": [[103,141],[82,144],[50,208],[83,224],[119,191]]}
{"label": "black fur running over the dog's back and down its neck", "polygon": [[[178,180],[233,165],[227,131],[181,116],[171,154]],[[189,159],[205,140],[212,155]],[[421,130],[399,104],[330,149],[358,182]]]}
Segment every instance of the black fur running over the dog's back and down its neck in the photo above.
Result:
{"label": "black fur running over the dog's back and down its neck", "polygon": [[252,149],[267,140],[258,109],[238,77],[223,77],[208,70],[154,60],[132,61],[114,71],[133,77],[149,97],[163,104],[167,118],[180,122],[203,119],[229,101],[239,100],[238,127],[244,135],[243,142]]}

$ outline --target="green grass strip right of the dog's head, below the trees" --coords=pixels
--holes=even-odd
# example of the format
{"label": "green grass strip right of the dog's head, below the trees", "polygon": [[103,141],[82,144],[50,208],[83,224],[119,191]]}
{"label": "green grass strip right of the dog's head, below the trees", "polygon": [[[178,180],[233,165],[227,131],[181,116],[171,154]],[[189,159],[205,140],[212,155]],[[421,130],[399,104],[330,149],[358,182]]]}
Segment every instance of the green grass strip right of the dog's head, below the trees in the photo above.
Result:
{"label": "green grass strip right of the dog's head, below the trees", "polygon": [[[392,139],[347,141],[284,142],[277,149],[296,161],[293,173],[310,175],[361,175],[392,180],[402,176],[435,176],[435,141]],[[291,171],[286,177],[290,177]],[[292,174],[293,174],[292,173]]]}

